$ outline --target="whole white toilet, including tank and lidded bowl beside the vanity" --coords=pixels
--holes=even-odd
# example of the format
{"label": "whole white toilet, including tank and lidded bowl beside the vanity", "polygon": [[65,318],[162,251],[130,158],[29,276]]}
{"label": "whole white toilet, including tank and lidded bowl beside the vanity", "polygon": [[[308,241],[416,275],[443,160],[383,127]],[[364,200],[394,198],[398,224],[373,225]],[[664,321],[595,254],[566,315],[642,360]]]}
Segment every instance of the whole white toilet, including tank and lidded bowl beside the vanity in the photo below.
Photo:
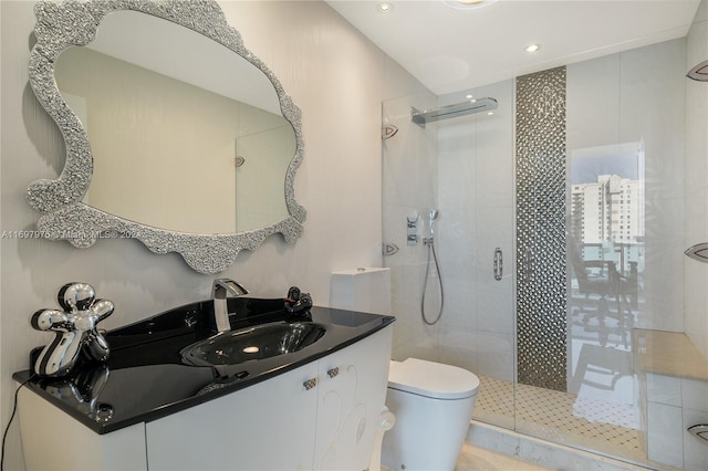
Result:
{"label": "whole white toilet, including tank and lidded bowl beside the vanity", "polygon": [[[330,304],[391,314],[391,270],[358,268],[332,273]],[[404,467],[406,471],[455,469],[478,389],[479,378],[456,366],[416,358],[391,362],[388,409],[381,415],[369,469],[379,469],[379,452],[381,464],[394,471]]]}

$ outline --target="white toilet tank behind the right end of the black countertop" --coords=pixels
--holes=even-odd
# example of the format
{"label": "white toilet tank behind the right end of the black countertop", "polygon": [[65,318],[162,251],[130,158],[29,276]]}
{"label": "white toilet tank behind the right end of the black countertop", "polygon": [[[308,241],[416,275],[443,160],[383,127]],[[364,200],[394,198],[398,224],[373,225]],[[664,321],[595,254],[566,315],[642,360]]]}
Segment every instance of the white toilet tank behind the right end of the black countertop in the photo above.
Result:
{"label": "white toilet tank behind the right end of the black countertop", "polygon": [[391,315],[391,269],[367,266],[332,272],[330,306]]}

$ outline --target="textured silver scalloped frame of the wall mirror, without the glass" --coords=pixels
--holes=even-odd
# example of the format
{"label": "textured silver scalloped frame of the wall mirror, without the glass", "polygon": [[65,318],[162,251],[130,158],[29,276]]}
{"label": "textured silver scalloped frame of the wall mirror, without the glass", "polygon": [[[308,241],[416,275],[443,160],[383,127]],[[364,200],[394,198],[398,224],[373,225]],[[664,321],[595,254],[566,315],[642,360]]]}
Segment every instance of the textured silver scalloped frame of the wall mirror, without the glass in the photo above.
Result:
{"label": "textured silver scalloped frame of the wall mirror, without the glass", "polygon": [[[272,83],[283,117],[295,134],[295,151],[284,180],[284,198],[290,214],[284,220],[256,230],[229,234],[201,234],[154,228],[101,211],[82,202],[93,175],[93,155],[86,132],[66,105],[56,86],[54,65],[67,48],[91,43],[101,21],[111,12],[133,10],[171,21],[196,31],[233,51],[258,67]],[[39,102],[59,126],[66,145],[64,168],[55,180],[37,180],[27,190],[30,206],[42,213],[38,230],[51,240],[69,240],[87,248],[100,238],[131,237],[155,253],[179,253],[200,273],[218,273],[236,261],[241,250],[253,250],[263,240],[282,233],[293,243],[303,230],[305,209],[295,200],[294,178],[303,158],[300,108],[292,103],[280,82],[266,64],[246,46],[239,32],[229,27],[221,8],[214,0],[92,0],[35,6],[37,44],[30,56],[30,84]],[[129,32],[126,32],[129,33]]]}

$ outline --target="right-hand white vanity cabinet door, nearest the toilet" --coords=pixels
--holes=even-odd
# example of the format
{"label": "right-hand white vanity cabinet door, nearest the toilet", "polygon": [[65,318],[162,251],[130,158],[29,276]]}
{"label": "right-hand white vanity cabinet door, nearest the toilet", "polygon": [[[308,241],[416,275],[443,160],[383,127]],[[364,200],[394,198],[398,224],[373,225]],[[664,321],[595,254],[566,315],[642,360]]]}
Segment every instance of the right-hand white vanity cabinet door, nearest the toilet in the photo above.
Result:
{"label": "right-hand white vanity cabinet door, nearest the toilet", "polygon": [[392,332],[386,327],[320,359],[313,469],[368,468],[386,399]]}

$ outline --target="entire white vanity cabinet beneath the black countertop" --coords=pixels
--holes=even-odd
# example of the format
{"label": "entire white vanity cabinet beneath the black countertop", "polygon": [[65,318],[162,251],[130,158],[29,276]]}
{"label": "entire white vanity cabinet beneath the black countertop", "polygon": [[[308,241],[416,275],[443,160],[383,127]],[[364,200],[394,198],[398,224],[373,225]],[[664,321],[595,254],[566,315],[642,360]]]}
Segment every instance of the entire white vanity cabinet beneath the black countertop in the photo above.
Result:
{"label": "entire white vanity cabinet beneath the black countertop", "polygon": [[[22,388],[27,468],[366,469],[386,396],[391,343],[387,326],[232,394],[105,435]],[[44,448],[62,436],[72,437],[66,448]]]}

